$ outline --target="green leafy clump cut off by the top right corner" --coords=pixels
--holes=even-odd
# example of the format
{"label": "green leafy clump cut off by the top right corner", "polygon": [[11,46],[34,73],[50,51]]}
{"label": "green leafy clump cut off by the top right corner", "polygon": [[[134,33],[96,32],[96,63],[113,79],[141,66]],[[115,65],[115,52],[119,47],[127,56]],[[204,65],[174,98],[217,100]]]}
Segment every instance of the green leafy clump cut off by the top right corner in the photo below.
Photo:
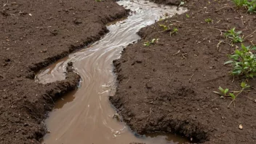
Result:
{"label": "green leafy clump cut off by the top right corner", "polygon": [[245,7],[249,13],[256,12],[256,0],[233,0],[236,7]]}

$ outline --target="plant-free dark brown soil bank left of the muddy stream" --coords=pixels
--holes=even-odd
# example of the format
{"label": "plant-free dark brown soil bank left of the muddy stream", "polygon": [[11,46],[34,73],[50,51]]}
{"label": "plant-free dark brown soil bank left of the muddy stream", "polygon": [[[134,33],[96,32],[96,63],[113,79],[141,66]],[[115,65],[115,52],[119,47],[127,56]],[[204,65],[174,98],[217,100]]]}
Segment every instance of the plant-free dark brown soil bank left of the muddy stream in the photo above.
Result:
{"label": "plant-free dark brown soil bank left of the muddy stream", "polygon": [[76,89],[68,67],[64,81],[36,84],[36,71],[97,41],[105,24],[127,15],[104,0],[0,1],[0,143],[39,143],[53,100]]}

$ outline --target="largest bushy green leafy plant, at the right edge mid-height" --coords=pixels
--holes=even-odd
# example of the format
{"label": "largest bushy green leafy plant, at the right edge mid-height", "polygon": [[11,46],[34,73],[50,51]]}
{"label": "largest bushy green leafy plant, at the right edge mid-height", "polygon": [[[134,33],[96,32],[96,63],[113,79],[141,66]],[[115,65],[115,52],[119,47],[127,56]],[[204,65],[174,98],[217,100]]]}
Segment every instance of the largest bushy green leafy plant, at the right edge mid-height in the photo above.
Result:
{"label": "largest bushy green leafy plant, at the right edge mid-height", "polygon": [[253,50],[256,50],[255,46],[245,47],[241,44],[241,50],[236,49],[235,54],[229,56],[232,60],[228,60],[224,65],[233,66],[231,74],[234,76],[244,75],[247,78],[253,78],[256,76],[256,55],[252,53]]}

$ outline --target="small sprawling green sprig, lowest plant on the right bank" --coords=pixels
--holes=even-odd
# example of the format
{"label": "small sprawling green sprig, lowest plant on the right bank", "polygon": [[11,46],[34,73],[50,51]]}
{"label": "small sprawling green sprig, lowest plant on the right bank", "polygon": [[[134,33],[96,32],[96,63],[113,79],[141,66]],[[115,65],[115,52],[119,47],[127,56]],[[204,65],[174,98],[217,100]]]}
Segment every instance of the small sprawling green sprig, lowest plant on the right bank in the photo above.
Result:
{"label": "small sprawling green sprig, lowest plant on the right bank", "polygon": [[[222,87],[219,87],[220,92],[216,92],[216,91],[213,91],[213,92],[220,95],[221,98],[230,97],[232,99],[231,103],[233,103],[235,106],[234,101],[236,100],[236,97],[239,94],[241,94],[241,92],[243,92],[244,89],[247,89],[250,86],[246,82],[243,81],[243,82],[241,82],[240,87],[241,87],[241,89],[239,91],[232,91],[232,92],[228,92],[229,89],[223,89]],[[231,105],[231,103],[229,103],[228,107]]]}

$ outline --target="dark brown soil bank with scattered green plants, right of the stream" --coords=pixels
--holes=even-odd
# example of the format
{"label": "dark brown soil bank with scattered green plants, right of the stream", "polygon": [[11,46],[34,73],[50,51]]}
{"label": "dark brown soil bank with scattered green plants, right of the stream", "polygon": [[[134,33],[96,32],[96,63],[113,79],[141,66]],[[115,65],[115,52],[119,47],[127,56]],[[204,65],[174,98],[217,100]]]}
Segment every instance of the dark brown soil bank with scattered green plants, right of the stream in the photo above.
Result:
{"label": "dark brown soil bank with scattered green plants, right of the stream", "polygon": [[[237,97],[235,107],[228,108],[231,99],[212,92],[219,86],[240,89],[243,79],[233,81],[231,66],[223,65],[236,49],[223,32],[236,27],[247,38],[245,44],[255,43],[256,15],[223,0],[187,1],[185,7],[189,17],[159,22],[172,23],[177,34],[162,32],[159,23],[143,28],[142,40],[113,62],[118,89],[111,103],[139,134],[175,132],[198,143],[256,143],[255,79],[249,80],[250,91]],[[213,23],[206,23],[207,18]],[[143,46],[154,38],[159,43]]]}

